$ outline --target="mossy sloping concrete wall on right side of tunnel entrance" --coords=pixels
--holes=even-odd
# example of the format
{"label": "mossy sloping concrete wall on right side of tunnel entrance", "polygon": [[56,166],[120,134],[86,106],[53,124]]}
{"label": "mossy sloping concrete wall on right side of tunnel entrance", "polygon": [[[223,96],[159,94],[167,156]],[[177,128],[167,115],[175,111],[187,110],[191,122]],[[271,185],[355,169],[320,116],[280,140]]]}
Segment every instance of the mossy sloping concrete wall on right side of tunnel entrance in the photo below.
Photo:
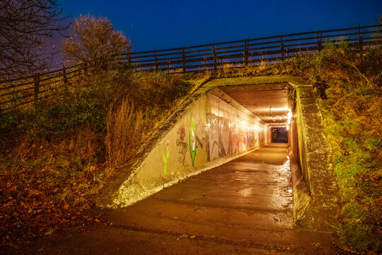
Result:
{"label": "mossy sloping concrete wall on right side of tunnel entrance", "polygon": [[[332,231],[337,220],[337,186],[330,147],[323,135],[322,116],[313,86],[296,88],[291,120],[291,167],[296,225]],[[299,167],[299,169],[295,169]]]}

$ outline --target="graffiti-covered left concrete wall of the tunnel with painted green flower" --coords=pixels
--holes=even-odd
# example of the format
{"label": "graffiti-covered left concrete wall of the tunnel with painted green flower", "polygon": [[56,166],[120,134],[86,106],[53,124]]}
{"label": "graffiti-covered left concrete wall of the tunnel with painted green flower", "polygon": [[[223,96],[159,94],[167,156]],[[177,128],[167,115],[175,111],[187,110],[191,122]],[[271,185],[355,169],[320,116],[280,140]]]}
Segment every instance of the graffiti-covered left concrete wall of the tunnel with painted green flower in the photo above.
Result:
{"label": "graffiti-covered left concrete wall of the tunnel with painted green flower", "polygon": [[180,179],[270,142],[267,124],[232,98],[227,100],[226,94],[222,100],[219,95],[224,92],[218,92],[207,93],[187,107],[183,117],[120,186],[112,207],[131,205]]}

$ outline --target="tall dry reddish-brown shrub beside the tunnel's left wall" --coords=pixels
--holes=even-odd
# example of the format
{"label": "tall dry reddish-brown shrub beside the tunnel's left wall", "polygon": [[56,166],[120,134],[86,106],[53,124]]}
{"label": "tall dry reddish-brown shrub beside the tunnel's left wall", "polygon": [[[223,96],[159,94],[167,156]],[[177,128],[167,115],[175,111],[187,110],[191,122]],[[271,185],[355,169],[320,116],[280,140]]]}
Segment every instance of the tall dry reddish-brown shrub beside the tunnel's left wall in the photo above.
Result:
{"label": "tall dry reddish-brown shrub beside the tunnel's left wall", "polygon": [[141,144],[142,111],[125,98],[119,107],[110,108],[106,128],[108,166],[113,169],[132,159]]}

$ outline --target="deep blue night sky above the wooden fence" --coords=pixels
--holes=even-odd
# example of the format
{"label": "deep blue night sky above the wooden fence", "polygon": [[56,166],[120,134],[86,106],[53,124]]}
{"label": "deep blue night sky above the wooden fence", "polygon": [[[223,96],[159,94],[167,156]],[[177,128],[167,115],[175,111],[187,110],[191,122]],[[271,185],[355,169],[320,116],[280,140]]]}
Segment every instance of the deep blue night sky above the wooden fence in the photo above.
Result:
{"label": "deep blue night sky above the wooden fence", "polygon": [[382,0],[58,0],[70,19],[109,18],[133,51],[378,23]]}

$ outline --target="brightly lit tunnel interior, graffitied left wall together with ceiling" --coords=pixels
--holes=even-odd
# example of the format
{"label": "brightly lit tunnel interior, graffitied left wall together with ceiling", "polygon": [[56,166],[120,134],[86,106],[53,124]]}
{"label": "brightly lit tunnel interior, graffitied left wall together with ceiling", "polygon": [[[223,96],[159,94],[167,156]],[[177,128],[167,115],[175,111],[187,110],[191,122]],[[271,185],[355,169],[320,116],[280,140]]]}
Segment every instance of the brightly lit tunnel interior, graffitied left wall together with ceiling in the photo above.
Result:
{"label": "brightly lit tunnel interior, graffitied left wall together with ceiling", "polygon": [[287,142],[287,83],[216,86],[186,102],[146,143],[112,205],[131,205],[181,179],[212,169],[272,142]]}

